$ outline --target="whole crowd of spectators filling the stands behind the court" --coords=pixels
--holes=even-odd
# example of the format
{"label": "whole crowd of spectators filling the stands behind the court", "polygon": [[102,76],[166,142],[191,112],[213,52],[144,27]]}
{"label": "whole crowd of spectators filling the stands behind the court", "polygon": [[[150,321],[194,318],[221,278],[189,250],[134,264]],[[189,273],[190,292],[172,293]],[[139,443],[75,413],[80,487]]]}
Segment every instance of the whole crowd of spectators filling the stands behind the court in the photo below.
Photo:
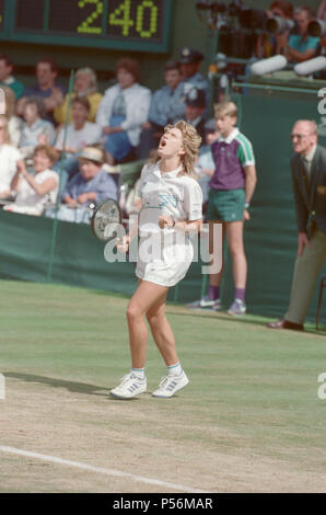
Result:
{"label": "whole crowd of spectators filling the stands behind the court", "polygon": [[[316,18],[311,8],[294,9],[291,2],[277,0],[268,15],[295,20],[296,33],[261,35],[257,57],[282,53],[299,62],[318,54],[325,42],[307,34],[308,22]],[[326,19],[326,1],[318,18]],[[118,181],[109,174],[113,168],[149,158],[164,127],[178,119],[193,124],[202,138],[197,171],[207,199],[213,173],[210,146],[219,133],[209,119],[210,88],[200,72],[202,59],[200,52],[182,48],[177,61],[166,62],[163,84],[153,92],[140,83],[139,65],[131,58],[117,61],[116,83],[104,92],[98,91],[95,70],[80,68],[69,94],[53,59],[38,60],[35,83],[25,88],[14,77],[11,58],[0,55],[5,99],[5,115],[0,115],[2,205],[11,202],[8,210],[48,214],[59,195],[59,216],[84,220],[75,216],[77,208],[105,196],[118,197]]]}

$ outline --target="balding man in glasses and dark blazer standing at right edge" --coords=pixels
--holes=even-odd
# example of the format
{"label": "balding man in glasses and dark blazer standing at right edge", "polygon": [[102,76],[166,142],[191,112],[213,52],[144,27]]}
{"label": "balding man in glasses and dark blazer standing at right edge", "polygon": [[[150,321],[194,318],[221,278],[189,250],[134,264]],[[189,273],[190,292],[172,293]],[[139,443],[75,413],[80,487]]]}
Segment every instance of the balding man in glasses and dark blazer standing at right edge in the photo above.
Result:
{"label": "balding man in glasses and dark blazer standing at right edge", "polygon": [[298,222],[298,256],[290,305],[270,329],[303,331],[318,275],[326,261],[326,149],[317,145],[317,126],[298,121],[291,133],[292,184]]}

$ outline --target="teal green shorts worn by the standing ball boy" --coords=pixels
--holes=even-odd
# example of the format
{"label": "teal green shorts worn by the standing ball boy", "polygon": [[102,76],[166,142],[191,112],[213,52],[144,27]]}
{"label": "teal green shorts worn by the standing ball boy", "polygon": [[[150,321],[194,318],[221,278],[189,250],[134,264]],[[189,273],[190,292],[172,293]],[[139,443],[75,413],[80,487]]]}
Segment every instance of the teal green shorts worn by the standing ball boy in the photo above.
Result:
{"label": "teal green shorts worn by the standing ball boy", "polygon": [[208,195],[207,220],[238,221],[243,220],[245,191],[210,190]]}

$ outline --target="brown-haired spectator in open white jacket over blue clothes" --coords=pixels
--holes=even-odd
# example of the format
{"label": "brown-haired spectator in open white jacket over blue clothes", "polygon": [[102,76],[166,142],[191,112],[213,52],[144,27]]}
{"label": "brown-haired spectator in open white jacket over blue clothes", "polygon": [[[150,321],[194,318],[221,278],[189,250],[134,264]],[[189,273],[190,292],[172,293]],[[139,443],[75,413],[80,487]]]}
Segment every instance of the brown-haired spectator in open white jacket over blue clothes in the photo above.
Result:
{"label": "brown-haired spectator in open white jacket over blue clothes", "polygon": [[139,66],[133,59],[119,59],[116,85],[102,99],[96,123],[103,128],[108,164],[123,160],[139,145],[141,126],[148,121],[151,91],[139,84]]}

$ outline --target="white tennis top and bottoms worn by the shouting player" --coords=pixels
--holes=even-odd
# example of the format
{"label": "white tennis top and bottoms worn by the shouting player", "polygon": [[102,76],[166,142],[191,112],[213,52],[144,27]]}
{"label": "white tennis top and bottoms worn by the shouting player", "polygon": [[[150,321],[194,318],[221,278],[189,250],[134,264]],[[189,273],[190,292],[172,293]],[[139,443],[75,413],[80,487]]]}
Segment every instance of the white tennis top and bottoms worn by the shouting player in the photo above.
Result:
{"label": "white tennis top and bottoms worn by the shouting player", "polygon": [[161,173],[160,161],[145,164],[141,172],[142,207],[139,217],[138,278],[175,286],[182,281],[194,259],[194,248],[185,231],[160,229],[159,218],[170,216],[176,221],[202,217],[202,192],[197,181],[181,175],[182,167]]}

